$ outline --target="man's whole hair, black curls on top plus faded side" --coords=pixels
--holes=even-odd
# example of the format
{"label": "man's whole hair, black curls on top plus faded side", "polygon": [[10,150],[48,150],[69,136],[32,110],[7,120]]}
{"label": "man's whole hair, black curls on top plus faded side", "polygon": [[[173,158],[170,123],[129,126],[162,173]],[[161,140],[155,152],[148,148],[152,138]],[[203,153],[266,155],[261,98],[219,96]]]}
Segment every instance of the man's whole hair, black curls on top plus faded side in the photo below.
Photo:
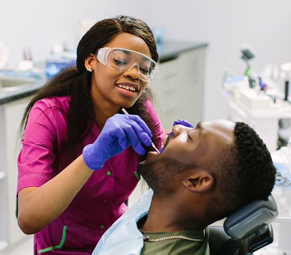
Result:
{"label": "man's whole hair, black curls on top plus faded side", "polygon": [[211,211],[214,206],[221,218],[250,201],[268,199],[275,183],[270,152],[257,133],[248,124],[236,122],[234,136],[234,144],[223,149],[211,167],[221,198],[212,201]]}

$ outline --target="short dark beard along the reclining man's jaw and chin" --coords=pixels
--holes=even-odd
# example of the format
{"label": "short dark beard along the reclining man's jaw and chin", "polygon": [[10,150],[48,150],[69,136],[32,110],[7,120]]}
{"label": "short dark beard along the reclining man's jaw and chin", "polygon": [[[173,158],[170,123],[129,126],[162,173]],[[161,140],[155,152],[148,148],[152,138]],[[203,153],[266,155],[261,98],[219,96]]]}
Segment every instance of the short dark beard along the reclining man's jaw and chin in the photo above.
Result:
{"label": "short dark beard along the reclining man's jaw and chin", "polygon": [[138,173],[148,183],[150,188],[158,191],[161,186],[169,184],[178,173],[195,167],[194,165],[183,164],[180,161],[163,158],[147,164],[137,166]]}

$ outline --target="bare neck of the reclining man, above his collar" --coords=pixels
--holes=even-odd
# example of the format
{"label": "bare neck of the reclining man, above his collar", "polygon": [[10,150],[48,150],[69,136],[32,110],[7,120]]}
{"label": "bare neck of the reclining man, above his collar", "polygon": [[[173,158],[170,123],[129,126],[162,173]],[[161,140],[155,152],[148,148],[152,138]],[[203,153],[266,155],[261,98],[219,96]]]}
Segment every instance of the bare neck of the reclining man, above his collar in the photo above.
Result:
{"label": "bare neck of the reclining man, above his collar", "polygon": [[148,232],[176,232],[183,230],[203,230],[206,226],[193,215],[189,216],[175,199],[153,196],[148,217],[140,221],[138,227]]}

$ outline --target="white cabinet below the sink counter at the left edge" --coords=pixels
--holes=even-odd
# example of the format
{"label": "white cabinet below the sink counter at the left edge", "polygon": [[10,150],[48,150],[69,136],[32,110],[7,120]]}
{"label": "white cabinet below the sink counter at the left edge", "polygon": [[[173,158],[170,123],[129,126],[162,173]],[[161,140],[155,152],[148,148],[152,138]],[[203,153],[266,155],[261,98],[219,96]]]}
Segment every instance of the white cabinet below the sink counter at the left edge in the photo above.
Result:
{"label": "white cabinet below the sink counter at the left edge", "polygon": [[16,219],[18,130],[29,97],[0,105],[0,251],[26,237]]}

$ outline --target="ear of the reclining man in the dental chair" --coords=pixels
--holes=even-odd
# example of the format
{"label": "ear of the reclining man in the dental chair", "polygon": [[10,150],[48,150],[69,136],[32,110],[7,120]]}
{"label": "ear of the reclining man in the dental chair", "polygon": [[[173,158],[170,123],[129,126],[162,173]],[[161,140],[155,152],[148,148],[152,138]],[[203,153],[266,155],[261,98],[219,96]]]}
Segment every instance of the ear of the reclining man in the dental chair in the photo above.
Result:
{"label": "ear of the reclining man in the dental chair", "polygon": [[183,185],[193,192],[205,192],[214,185],[214,177],[207,171],[192,174],[183,181]]}

